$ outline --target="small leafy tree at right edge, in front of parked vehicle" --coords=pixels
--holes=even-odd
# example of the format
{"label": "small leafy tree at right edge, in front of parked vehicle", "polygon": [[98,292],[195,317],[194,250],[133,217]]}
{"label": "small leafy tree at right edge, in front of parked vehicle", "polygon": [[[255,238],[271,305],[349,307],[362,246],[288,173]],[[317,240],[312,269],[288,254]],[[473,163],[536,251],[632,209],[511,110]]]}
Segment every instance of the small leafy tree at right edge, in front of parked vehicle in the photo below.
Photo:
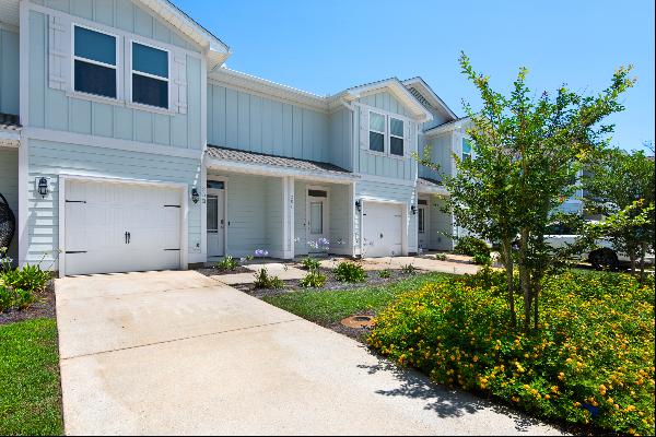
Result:
{"label": "small leafy tree at right edge, in front of parked vehicle", "polygon": [[595,228],[629,256],[632,274],[640,260],[641,279],[645,255],[654,249],[654,157],[643,151],[607,149],[583,179],[587,211],[607,216]]}

